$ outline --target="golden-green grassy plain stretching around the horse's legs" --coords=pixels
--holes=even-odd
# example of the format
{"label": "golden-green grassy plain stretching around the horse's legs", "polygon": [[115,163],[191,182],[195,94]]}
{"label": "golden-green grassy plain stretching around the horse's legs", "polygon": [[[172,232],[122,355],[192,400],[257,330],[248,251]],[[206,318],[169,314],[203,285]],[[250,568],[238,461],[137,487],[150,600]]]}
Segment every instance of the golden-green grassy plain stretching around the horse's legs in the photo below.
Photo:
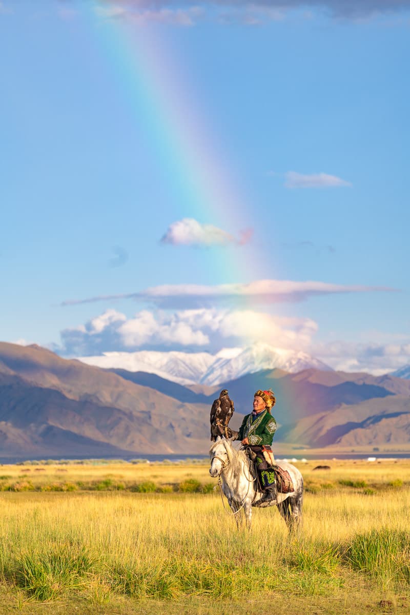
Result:
{"label": "golden-green grassy plain stretching around the horse's legs", "polygon": [[410,613],[410,461],[326,464],[294,536],[206,462],[2,466],[0,613]]}

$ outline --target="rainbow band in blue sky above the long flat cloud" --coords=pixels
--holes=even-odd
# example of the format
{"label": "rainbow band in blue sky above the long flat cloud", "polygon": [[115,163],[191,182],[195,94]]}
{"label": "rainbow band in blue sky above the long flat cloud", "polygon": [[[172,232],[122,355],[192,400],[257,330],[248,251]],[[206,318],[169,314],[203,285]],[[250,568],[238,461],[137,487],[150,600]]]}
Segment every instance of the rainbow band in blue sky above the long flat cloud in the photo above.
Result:
{"label": "rainbow band in blue sky above the long flat cloud", "polygon": [[[82,10],[87,12],[101,53],[111,63],[138,125],[143,115],[165,181],[183,207],[180,217],[209,222],[234,235],[243,229],[235,228],[237,219],[245,219],[245,227],[253,226],[251,207],[237,188],[240,180],[230,168],[210,119],[200,110],[170,42],[151,26],[101,18],[97,8],[98,4],[84,3]],[[241,252],[226,250],[224,254],[224,270],[231,282],[251,282],[255,277],[254,260],[250,262]]]}

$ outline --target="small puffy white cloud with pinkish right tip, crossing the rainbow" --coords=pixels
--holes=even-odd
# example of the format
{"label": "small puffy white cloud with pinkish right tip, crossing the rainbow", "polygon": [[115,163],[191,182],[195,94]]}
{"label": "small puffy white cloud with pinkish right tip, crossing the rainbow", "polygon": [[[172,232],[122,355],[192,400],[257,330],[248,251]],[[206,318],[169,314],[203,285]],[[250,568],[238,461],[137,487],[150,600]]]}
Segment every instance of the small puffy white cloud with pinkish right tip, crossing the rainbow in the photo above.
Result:
{"label": "small puffy white cloud with pinkish right tip, crossing the rainbow", "polygon": [[213,226],[213,224],[201,224],[194,218],[183,218],[183,220],[170,224],[161,239],[161,243],[208,248],[213,245],[243,245],[250,240],[251,236],[251,229],[242,231],[240,237],[235,238],[223,229]]}

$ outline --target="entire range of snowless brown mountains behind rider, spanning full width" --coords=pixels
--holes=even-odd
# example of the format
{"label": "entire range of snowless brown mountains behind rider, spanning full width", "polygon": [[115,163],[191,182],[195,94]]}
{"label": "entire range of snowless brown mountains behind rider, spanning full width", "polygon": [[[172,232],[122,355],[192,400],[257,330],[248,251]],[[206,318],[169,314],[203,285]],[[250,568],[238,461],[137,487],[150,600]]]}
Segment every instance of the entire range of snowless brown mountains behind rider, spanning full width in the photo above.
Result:
{"label": "entire range of snowless brown mountains behind rider, spanning full width", "polygon": [[275,443],[302,447],[408,445],[410,380],[309,368],[262,369],[189,386],[146,371],[103,369],[39,346],[0,343],[2,456],[206,454],[221,388],[238,429],[259,388],[275,392]]}

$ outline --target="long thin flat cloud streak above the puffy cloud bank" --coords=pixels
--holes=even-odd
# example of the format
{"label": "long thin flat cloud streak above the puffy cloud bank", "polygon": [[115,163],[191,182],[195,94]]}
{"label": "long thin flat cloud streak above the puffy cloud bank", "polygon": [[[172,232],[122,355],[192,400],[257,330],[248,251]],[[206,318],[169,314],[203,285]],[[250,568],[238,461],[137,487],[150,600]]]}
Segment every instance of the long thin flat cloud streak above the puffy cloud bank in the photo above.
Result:
{"label": "long thin flat cloud streak above the puffy cloud bank", "polygon": [[293,280],[255,280],[249,284],[165,284],[146,288],[136,293],[100,295],[81,300],[66,300],[61,305],[93,303],[114,299],[135,299],[156,304],[162,308],[202,307],[234,300],[252,300],[253,303],[298,303],[318,295],[335,293],[392,292],[394,288],[365,285],[328,284],[327,282],[294,282]]}

